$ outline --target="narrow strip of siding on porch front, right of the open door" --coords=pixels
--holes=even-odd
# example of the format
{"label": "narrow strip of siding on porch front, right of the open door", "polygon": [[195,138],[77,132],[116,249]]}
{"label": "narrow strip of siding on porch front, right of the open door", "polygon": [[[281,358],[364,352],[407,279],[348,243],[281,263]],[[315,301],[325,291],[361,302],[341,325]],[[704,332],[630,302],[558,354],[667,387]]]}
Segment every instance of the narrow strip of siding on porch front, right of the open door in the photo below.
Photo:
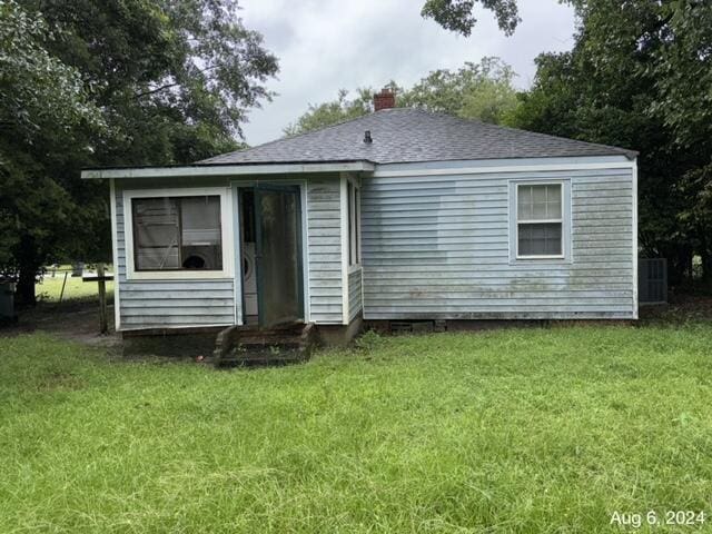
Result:
{"label": "narrow strip of siding on porch front, right of the open door", "polygon": [[340,201],[338,175],[309,177],[309,315],[314,323],[342,324],[344,320]]}

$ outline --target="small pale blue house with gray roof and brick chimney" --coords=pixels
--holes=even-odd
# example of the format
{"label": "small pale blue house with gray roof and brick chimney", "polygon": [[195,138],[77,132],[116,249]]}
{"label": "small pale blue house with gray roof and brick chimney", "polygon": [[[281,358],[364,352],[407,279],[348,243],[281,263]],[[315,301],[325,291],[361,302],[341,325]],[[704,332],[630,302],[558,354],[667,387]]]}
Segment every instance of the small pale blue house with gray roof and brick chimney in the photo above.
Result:
{"label": "small pale blue house with gray roof and brick chimney", "polygon": [[121,332],[634,319],[636,152],[394,107],[111,191]]}

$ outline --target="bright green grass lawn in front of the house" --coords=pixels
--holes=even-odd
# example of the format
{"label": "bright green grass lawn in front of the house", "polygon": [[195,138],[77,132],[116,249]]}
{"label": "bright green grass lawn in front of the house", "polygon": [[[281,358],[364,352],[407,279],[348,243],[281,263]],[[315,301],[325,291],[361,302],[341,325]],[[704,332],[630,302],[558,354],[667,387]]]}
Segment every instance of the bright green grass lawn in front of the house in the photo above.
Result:
{"label": "bright green grass lawn in front of the house", "polygon": [[[220,372],[0,338],[0,532],[711,530],[712,325],[366,345]],[[706,524],[609,524],[651,510]]]}

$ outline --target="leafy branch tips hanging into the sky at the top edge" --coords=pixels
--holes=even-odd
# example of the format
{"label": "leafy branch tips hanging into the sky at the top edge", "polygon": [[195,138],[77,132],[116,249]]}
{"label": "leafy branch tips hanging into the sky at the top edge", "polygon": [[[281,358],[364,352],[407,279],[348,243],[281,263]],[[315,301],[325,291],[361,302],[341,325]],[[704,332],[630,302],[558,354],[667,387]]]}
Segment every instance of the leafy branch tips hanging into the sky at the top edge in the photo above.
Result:
{"label": "leafy branch tips hanging into the sky at the top edge", "polygon": [[477,22],[473,14],[475,3],[493,11],[500,29],[507,36],[514,33],[521,22],[516,0],[427,0],[421,14],[446,30],[469,37]]}

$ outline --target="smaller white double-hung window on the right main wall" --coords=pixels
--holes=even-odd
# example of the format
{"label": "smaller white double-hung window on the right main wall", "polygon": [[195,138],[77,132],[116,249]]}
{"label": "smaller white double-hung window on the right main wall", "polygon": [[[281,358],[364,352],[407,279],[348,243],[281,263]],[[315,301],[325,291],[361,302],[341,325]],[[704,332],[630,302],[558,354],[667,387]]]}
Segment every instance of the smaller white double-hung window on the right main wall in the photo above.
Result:
{"label": "smaller white double-hung window on the right main wall", "polygon": [[562,184],[517,184],[517,258],[564,256],[563,198]]}

